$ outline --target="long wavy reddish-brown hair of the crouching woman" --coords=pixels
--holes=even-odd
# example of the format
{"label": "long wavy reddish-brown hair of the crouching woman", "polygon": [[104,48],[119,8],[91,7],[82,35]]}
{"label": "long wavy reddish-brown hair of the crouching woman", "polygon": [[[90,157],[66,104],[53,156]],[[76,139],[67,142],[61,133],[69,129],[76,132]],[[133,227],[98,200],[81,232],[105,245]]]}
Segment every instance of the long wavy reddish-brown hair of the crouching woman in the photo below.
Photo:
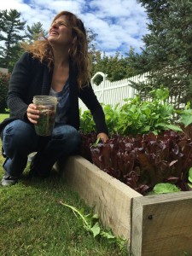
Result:
{"label": "long wavy reddish-brown hair of the crouching woman", "polygon": [[[76,15],[67,11],[61,11],[61,13],[55,16],[53,22],[61,15],[67,16],[67,26],[72,30],[73,44],[69,49],[69,60],[77,70],[79,88],[83,88],[90,83],[91,78],[88,41],[84,23]],[[54,63],[53,49],[48,39],[44,36],[32,44],[22,44],[22,47],[32,53],[32,56],[38,58],[39,61],[46,61],[48,67],[51,66],[51,63]]]}

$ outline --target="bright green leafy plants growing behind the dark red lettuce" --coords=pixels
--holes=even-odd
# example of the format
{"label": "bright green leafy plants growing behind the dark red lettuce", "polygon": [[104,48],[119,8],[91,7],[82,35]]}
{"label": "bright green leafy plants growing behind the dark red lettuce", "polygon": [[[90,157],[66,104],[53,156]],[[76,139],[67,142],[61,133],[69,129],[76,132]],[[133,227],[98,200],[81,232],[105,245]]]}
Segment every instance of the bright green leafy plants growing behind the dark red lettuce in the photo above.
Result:
{"label": "bright green leafy plants growing behind the dark red lettuce", "polygon": [[[125,104],[113,108],[111,105],[102,105],[109,134],[121,136],[136,136],[153,131],[182,131],[179,125],[174,124],[176,110],[167,102],[169,91],[161,87],[151,91],[150,100],[143,101],[140,96],[125,99]],[[87,133],[95,131],[95,125],[89,110],[81,114],[80,131]]]}

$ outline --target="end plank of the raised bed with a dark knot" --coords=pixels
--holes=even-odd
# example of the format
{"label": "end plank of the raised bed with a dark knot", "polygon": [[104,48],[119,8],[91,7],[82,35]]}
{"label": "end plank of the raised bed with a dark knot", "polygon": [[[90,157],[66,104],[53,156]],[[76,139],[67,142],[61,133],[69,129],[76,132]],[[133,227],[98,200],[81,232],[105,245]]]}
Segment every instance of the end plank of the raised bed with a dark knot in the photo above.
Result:
{"label": "end plank of the raised bed with a dark knot", "polygon": [[133,198],[131,252],[134,256],[192,255],[191,230],[191,191]]}

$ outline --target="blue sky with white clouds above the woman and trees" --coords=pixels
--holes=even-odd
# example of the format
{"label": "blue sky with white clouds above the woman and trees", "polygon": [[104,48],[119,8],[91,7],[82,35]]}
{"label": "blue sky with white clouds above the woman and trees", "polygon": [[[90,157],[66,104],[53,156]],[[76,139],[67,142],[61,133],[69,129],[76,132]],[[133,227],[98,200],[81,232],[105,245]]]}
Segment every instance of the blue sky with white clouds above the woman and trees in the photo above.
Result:
{"label": "blue sky with white clouds above the woman and trees", "polygon": [[137,0],[2,0],[3,9],[16,9],[27,25],[40,21],[45,30],[57,13],[73,12],[97,34],[96,49],[107,55],[125,55],[131,47],[141,52],[148,33],[147,15]]}

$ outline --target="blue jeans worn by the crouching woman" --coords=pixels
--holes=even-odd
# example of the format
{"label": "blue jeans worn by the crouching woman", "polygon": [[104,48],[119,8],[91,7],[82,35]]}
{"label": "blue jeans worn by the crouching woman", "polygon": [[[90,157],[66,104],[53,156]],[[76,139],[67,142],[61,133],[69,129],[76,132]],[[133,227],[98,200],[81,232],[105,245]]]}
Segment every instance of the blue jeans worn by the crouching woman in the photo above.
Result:
{"label": "blue jeans worn by the crouching woman", "polygon": [[6,125],[3,130],[3,149],[6,160],[3,168],[13,177],[20,177],[26,168],[27,156],[36,154],[39,172],[50,172],[56,160],[76,154],[81,137],[73,126],[56,124],[50,137],[39,137],[34,125],[20,119]]}

